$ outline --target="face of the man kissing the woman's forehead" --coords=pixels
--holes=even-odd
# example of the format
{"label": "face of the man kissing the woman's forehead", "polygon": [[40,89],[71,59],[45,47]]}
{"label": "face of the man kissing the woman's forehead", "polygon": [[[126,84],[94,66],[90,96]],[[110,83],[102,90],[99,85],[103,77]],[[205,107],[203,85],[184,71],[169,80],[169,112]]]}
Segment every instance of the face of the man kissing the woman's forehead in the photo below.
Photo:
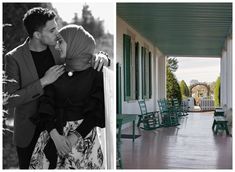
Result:
{"label": "face of the man kissing the woman's forehead", "polygon": [[40,32],[40,41],[45,45],[56,45],[56,36],[58,34],[57,24],[55,20],[46,22],[45,27]]}

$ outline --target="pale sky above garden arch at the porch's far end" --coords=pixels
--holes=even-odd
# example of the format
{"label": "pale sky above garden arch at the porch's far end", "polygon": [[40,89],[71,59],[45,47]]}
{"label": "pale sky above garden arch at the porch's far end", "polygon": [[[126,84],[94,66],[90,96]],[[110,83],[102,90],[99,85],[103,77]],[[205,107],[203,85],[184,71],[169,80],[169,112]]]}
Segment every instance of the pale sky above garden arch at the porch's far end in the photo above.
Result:
{"label": "pale sky above garden arch at the porch's far end", "polygon": [[191,80],[213,82],[220,75],[220,58],[178,57],[177,59],[179,68],[175,75],[178,81],[184,80],[187,85]]}

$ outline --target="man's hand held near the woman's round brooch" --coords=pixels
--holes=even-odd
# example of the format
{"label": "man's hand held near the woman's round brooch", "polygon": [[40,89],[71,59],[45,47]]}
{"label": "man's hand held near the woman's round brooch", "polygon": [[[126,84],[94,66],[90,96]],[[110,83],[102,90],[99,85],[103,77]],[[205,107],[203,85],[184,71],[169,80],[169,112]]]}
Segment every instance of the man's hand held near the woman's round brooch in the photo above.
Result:
{"label": "man's hand held near the woman's round brooch", "polygon": [[48,69],[40,79],[42,87],[55,82],[64,73],[64,65],[55,65]]}

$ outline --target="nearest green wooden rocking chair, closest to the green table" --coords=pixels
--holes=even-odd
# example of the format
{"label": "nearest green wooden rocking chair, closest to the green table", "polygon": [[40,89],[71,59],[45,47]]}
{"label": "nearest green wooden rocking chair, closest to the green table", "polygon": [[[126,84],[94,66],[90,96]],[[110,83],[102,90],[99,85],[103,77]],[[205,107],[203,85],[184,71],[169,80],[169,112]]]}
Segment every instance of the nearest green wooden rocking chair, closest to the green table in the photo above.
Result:
{"label": "nearest green wooden rocking chair, closest to the green table", "polygon": [[144,100],[139,100],[139,107],[140,107],[140,112],[141,115],[139,116],[138,124],[137,127],[140,127],[140,124],[143,124],[144,130],[154,130],[156,128],[160,127],[160,120],[159,120],[159,115],[158,112],[148,112],[147,107],[145,104]]}

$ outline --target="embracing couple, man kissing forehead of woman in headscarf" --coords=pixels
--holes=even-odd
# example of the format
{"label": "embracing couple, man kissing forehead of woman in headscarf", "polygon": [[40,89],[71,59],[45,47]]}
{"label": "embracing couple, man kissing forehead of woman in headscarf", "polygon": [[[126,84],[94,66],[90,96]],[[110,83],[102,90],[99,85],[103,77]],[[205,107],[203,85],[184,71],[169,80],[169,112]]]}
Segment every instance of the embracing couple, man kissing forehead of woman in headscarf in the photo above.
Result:
{"label": "embracing couple, man kissing forehead of woman in headscarf", "polygon": [[102,66],[95,40],[82,26],[58,31],[55,13],[33,8],[24,16],[26,41],[7,53],[5,92],[14,108],[20,169],[103,169],[97,127],[105,127]]}

